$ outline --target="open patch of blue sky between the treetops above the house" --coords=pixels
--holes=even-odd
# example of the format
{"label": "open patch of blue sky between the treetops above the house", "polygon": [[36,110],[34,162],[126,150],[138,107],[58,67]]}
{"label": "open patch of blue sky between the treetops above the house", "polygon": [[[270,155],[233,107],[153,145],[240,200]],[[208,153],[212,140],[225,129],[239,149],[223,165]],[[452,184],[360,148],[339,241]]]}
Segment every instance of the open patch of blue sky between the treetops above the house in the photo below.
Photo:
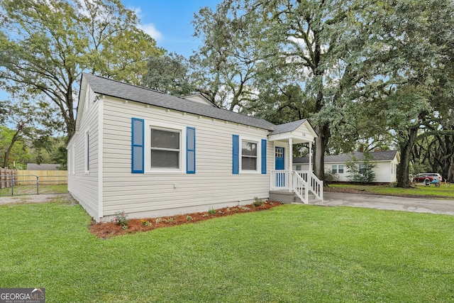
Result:
{"label": "open patch of blue sky between the treetops above the house", "polygon": [[[216,9],[221,0],[123,0],[123,4],[137,13],[142,29],[157,41],[157,46],[189,57],[200,41],[192,36],[194,13],[204,6]],[[0,100],[9,94],[0,90]]]}

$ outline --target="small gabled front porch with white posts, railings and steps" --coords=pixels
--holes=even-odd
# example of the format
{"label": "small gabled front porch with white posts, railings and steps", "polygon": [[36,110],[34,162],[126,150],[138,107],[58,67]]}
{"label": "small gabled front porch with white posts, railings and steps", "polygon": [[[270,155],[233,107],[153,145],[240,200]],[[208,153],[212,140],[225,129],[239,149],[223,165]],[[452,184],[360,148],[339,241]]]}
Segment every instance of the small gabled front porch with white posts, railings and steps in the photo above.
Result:
{"label": "small gabled front porch with white posts, railings and steps", "polygon": [[[317,134],[306,119],[277,126],[268,136],[275,145],[275,169],[270,171],[270,199],[309,204],[323,201],[323,182],[312,172],[312,144]],[[293,170],[293,145],[308,143],[309,170]]]}

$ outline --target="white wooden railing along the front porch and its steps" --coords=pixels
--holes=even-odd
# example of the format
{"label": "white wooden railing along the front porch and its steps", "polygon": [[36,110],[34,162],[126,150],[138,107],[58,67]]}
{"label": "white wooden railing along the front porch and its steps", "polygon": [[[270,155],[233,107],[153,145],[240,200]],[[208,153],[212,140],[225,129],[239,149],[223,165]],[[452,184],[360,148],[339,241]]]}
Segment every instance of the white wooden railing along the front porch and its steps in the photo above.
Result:
{"label": "white wooden railing along the front porch and its steps", "polygon": [[309,203],[309,191],[323,201],[323,181],[309,170],[292,171],[292,175],[289,170],[272,170],[270,189],[294,192],[304,204]]}

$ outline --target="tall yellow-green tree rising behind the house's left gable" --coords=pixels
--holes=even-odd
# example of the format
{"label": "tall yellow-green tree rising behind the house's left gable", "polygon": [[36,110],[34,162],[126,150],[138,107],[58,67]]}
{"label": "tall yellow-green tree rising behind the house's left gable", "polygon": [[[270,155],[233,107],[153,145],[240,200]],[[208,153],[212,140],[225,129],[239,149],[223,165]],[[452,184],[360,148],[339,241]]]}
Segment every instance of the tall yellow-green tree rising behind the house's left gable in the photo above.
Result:
{"label": "tall yellow-green tree rising behind the house's left gable", "polygon": [[45,96],[74,132],[83,71],[139,84],[155,40],[118,0],[0,0],[0,86],[26,99]]}

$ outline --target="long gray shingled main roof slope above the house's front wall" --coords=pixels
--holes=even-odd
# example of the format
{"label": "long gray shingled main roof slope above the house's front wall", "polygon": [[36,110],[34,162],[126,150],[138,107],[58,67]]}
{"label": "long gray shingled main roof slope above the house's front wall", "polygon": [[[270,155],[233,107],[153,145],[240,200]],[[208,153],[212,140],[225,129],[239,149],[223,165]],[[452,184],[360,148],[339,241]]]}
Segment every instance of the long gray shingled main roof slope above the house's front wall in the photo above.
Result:
{"label": "long gray shingled main roof slope above the house's front wall", "polygon": [[[264,128],[268,131],[274,131],[276,126],[273,123],[263,119],[238,114],[226,109],[218,109],[212,106],[206,106],[196,101],[185,100],[170,94],[157,92],[153,89],[145,87],[137,87],[135,85],[118,82],[113,79],[106,79],[91,74],[83,74],[89,86],[96,94],[104,94],[110,97],[117,97],[129,101],[136,101],[143,104],[159,106],[165,109],[173,109],[189,114],[206,116],[209,118],[220,119],[240,123],[248,126]],[[285,124],[284,124],[285,125]]]}

